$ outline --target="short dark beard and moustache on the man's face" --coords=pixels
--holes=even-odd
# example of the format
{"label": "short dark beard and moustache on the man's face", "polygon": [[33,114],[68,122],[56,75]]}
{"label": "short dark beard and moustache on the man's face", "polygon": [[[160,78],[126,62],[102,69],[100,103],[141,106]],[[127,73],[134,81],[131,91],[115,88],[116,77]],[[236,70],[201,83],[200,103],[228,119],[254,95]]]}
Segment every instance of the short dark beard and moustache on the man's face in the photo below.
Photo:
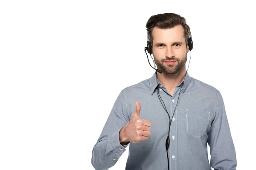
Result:
{"label": "short dark beard and moustache on the man's face", "polygon": [[[169,58],[166,57],[165,59],[158,60],[154,57],[154,62],[157,65],[157,68],[159,70],[162,70],[166,74],[176,74],[178,71],[180,71],[181,68],[183,68],[184,65],[186,65],[187,61],[187,53],[182,59],[177,59],[175,57]],[[153,55],[154,56],[154,55]],[[165,61],[171,61],[171,60],[177,60],[175,64],[173,65],[168,65],[165,63]]]}

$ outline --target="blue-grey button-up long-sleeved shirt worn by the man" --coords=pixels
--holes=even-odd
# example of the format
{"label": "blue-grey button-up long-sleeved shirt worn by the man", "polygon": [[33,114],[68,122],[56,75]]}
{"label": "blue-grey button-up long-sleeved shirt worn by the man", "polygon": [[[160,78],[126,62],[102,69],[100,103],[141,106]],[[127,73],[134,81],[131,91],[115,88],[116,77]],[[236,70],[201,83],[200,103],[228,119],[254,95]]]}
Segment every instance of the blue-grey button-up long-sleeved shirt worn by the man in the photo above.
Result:
{"label": "blue-grey button-up long-sleeved shirt worn by the man", "polygon": [[[96,170],[112,167],[130,144],[126,170],[168,170],[165,144],[169,117],[157,96],[157,87],[172,119],[168,149],[170,170],[211,170],[211,167],[236,170],[236,151],[221,93],[188,73],[176,86],[173,96],[160,82],[157,85],[155,73],[149,79],[124,88],[93,147],[93,167]],[[141,105],[140,119],[151,122],[151,135],[145,141],[122,146],[119,131],[134,114],[136,101]]]}

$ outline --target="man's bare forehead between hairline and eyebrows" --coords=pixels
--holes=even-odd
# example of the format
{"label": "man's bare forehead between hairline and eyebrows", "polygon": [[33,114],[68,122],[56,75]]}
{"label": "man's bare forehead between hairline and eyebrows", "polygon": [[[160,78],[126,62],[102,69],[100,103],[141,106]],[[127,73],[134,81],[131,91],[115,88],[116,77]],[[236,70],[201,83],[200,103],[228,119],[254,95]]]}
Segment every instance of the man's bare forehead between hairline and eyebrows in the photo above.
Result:
{"label": "man's bare forehead between hairline and eyebrows", "polygon": [[154,27],[152,31],[154,42],[174,42],[174,41],[184,41],[183,37],[184,29],[181,25],[177,25],[173,28],[158,28]]}

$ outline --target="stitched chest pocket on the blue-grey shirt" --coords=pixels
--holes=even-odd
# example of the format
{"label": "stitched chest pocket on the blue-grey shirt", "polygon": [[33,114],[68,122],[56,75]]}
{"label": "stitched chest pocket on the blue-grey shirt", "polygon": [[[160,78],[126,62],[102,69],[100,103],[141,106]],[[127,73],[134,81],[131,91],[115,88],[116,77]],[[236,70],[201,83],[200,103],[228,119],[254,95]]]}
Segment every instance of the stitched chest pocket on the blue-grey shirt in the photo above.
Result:
{"label": "stitched chest pocket on the blue-grey shirt", "polygon": [[186,109],[186,133],[200,138],[206,133],[210,112],[199,109]]}

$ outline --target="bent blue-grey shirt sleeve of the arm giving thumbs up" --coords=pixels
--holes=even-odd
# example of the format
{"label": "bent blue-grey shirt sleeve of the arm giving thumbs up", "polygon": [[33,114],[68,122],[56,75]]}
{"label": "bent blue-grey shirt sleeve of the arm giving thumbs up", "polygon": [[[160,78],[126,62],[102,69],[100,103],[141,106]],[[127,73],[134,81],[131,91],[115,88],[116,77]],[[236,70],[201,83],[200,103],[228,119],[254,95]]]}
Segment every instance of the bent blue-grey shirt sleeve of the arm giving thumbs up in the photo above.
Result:
{"label": "bent blue-grey shirt sleeve of the arm giving thumbs up", "polygon": [[112,167],[127,145],[121,145],[119,132],[129,122],[125,93],[122,90],[117,97],[98,141],[93,146],[91,163],[96,170]]}

